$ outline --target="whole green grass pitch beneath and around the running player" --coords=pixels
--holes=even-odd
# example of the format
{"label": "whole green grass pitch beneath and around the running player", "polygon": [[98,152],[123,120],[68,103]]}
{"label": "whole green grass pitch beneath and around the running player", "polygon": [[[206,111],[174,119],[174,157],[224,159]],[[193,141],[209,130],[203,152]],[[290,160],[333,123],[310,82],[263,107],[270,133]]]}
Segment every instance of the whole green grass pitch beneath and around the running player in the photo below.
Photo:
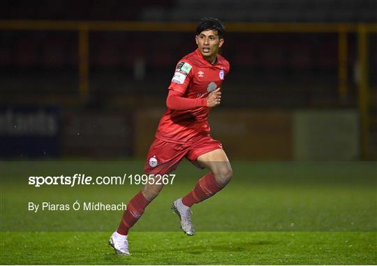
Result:
{"label": "whole green grass pitch beneath and around the running player", "polygon": [[235,161],[232,168],[226,189],[193,207],[197,235],[186,237],[170,204],[206,171],[182,163],[134,226],[125,258],[107,246],[122,212],[34,213],[27,204],[127,202],[142,186],[35,188],[27,179],[136,174],[142,161],[0,162],[0,264],[377,264],[376,162]]}

